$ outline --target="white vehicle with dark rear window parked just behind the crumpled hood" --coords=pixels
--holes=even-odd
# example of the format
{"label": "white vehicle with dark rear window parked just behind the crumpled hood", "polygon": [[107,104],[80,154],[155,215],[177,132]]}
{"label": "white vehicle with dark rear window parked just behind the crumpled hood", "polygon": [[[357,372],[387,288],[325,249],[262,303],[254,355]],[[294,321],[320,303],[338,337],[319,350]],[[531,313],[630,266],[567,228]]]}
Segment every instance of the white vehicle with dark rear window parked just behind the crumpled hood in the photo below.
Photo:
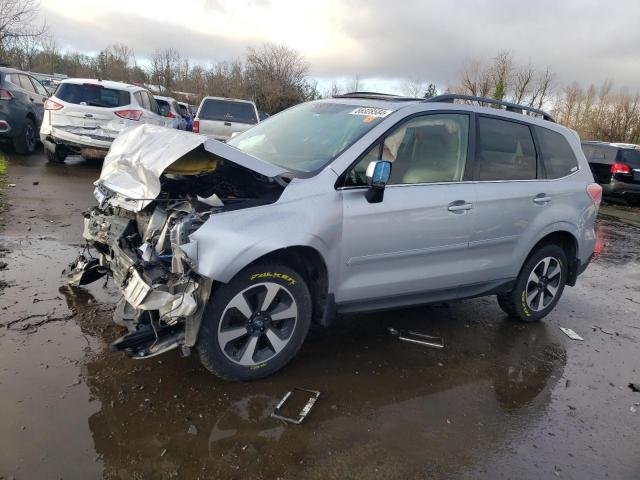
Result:
{"label": "white vehicle with dark rear window parked just behind the crumpled hood", "polygon": [[193,131],[226,141],[258,123],[255,103],[237,98],[205,97],[193,121]]}

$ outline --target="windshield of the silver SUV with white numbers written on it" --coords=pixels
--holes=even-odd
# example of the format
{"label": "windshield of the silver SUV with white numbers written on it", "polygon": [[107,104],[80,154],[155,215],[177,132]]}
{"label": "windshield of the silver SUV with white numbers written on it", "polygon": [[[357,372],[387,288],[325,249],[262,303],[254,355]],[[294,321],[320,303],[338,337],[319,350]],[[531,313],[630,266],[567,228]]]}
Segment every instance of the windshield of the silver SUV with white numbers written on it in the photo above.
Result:
{"label": "windshield of the silver SUV with white numbers written on it", "polygon": [[309,173],[327,165],[391,112],[344,103],[304,103],[227,143],[266,162]]}

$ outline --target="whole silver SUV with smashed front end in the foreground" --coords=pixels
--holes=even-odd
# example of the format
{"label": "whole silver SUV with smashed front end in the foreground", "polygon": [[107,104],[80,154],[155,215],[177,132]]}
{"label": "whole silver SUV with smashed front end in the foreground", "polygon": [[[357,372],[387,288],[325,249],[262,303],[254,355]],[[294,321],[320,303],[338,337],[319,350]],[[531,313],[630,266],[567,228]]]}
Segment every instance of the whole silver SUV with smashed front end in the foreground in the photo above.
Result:
{"label": "whole silver SUV with smashed front end in the foreground", "polygon": [[195,347],[251,380],[337,313],[496,295],[538,321],[594,250],[602,188],[578,135],[530,107],[348,94],[227,143],[165,132],[114,142],[85,220],[99,258],[69,276],[111,273],[130,330],[113,348],[136,358]]}

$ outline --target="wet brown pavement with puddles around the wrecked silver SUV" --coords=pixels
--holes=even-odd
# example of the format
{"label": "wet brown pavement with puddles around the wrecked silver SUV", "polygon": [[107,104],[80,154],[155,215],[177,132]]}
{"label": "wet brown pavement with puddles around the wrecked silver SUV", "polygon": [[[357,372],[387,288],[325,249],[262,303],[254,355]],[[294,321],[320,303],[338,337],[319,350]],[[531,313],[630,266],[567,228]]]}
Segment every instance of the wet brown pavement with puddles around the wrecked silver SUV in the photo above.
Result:
{"label": "wet brown pavement with puddles around the wrecked silver SUV", "polygon": [[[231,383],[196,356],[111,352],[115,289],[63,285],[99,169],[9,159],[0,478],[640,478],[640,228],[615,206],[543,323],[510,321],[493,297],[343,318],[274,377]],[[270,418],[296,386],[322,392],[306,421]]]}

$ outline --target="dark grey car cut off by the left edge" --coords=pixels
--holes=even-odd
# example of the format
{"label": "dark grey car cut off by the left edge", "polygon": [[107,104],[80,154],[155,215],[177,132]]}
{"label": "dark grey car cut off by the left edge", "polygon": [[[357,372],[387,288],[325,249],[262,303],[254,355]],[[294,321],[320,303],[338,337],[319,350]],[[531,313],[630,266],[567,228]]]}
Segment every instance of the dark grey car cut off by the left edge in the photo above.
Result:
{"label": "dark grey car cut off by the left edge", "polygon": [[33,153],[47,97],[33,76],[0,67],[0,141],[12,143],[17,153]]}

